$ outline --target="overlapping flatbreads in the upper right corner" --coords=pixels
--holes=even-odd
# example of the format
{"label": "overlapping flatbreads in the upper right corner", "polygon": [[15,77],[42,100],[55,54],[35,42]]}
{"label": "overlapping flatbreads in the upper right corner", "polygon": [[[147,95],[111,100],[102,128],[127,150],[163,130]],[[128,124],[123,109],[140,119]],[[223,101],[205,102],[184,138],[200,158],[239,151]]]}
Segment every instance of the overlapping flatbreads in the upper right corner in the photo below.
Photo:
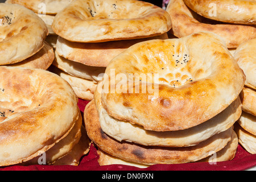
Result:
{"label": "overlapping flatbreads in the upper right corner", "polygon": [[178,38],[209,31],[220,35],[229,49],[235,49],[256,38],[255,9],[256,2],[252,1],[170,0],[166,11],[173,24],[171,34]]}

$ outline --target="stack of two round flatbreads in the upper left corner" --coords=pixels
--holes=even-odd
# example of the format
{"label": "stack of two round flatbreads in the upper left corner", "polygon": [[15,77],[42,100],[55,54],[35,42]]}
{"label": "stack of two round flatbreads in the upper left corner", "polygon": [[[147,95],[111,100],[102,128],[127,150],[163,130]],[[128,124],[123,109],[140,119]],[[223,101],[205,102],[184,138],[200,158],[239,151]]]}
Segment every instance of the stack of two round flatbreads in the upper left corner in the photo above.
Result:
{"label": "stack of two round flatbreads in the upper left corner", "polygon": [[26,7],[7,3],[0,6],[0,65],[47,69],[54,52],[45,41],[46,24]]}

